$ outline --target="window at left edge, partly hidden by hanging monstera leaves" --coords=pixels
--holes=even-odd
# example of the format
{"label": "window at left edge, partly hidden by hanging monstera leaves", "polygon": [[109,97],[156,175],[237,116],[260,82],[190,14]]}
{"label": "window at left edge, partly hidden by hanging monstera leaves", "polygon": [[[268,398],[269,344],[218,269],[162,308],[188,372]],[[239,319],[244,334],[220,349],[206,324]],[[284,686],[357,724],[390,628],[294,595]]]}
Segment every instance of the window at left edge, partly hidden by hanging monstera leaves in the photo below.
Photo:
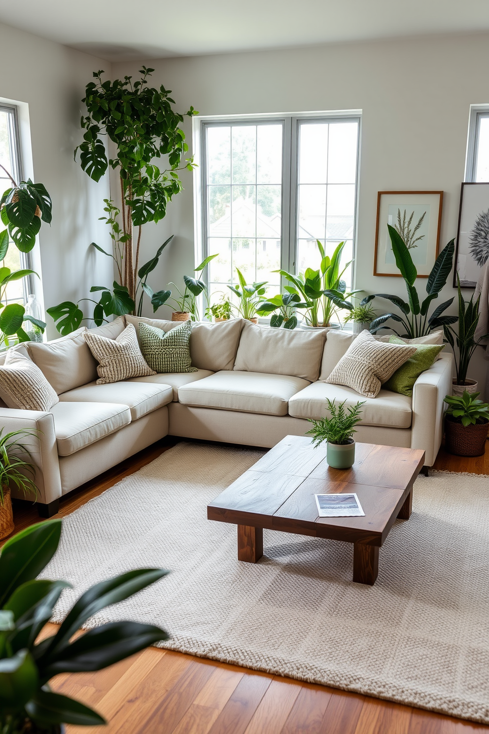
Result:
{"label": "window at left edge, partly hidden by hanging monstera leaves", "polygon": [[[0,105],[0,164],[3,167],[0,168],[1,196],[4,191],[12,186],[12,181],[10,181],[6,170],[17,183],[22,178],[17,110],[15,107],[3,105]],[[12,271],[29,268],[29,256],[24,252],[20,252],[15,245],[11,244],[2,266],[10,268]],[[25,303],[31,286],[29,278],[13,280],[7,286],[4,303]]]}

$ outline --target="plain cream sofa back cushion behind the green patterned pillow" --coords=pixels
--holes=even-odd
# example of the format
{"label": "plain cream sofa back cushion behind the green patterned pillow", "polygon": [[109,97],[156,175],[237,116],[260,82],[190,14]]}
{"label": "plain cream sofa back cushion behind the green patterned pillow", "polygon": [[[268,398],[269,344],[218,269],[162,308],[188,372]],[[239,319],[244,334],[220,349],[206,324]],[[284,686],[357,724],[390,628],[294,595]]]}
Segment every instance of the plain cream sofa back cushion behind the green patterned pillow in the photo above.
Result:
{"label": "plain cream sofa back cushion behind the green patterned pillow", "polygon": [[[142,316],[127,315],[125,320],[126,323],[133,324],[136,331],[139,331],[138,325],[141,321],[163,331],[169,331],[179,325],[178,321],[146,319]],[[232,369],[243,323],[243,319],[230,319],[217,324],[210,321],[193,321],[190,335],[192,366],[212,372]]]}

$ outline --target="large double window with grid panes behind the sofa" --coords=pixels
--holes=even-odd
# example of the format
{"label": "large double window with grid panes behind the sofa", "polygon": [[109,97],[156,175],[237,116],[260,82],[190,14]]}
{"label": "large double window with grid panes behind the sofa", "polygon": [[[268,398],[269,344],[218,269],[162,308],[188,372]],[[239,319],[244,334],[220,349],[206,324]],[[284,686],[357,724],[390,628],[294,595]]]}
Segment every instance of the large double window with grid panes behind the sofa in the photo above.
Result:
{"label": "large double window with grid panes behind the sofa", "polygon": [[[317,269],[316,239],[342,262],[353,259],[359,115],[272,117],[202,122],[203,255],[211,302],[236,285],[268,281],[276,270]],[[352,285],[352,267],[343,276]]]}

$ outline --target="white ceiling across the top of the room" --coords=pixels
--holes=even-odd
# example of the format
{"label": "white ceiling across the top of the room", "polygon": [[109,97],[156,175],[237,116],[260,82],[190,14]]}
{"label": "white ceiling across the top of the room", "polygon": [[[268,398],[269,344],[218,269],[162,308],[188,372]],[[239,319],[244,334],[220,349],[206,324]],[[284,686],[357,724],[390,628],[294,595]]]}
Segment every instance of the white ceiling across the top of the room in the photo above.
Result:
{"label": "white ceiling across the top of the room", "polygon": [[0,21],[107,60],[489,30],[488,0],[0,0]]}

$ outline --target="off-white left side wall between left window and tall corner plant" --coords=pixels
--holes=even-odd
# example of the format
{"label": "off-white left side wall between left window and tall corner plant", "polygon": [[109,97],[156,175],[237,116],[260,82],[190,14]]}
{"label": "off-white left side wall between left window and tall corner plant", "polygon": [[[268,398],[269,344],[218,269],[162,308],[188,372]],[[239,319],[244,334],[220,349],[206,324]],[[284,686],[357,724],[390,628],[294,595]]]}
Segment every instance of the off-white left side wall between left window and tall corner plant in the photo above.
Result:
{"label": "off-white left side wall between left window and tall corner plant", "polygon": [[[95,283],[113,279],[109,258],[89,248],[96,241],[110,247],[109,233],[98,217],[109,195],[107,179],[95,183],[73,161],[81,142],[80,116],[84,87],[92,71],[108,62],[0,24],[0,97],[29,106],[32,165],[24,156],[25,175],[45,184],[53,200],[51,227],[43,223],[39,252],[45,307],[87,297]],[[29,148],[29,140],[23,139]],[[90,252],[88,251],[90,250]],[[40,258],[39,258],[40,254]],[[56,332],[48,316],[48,337]]]}

